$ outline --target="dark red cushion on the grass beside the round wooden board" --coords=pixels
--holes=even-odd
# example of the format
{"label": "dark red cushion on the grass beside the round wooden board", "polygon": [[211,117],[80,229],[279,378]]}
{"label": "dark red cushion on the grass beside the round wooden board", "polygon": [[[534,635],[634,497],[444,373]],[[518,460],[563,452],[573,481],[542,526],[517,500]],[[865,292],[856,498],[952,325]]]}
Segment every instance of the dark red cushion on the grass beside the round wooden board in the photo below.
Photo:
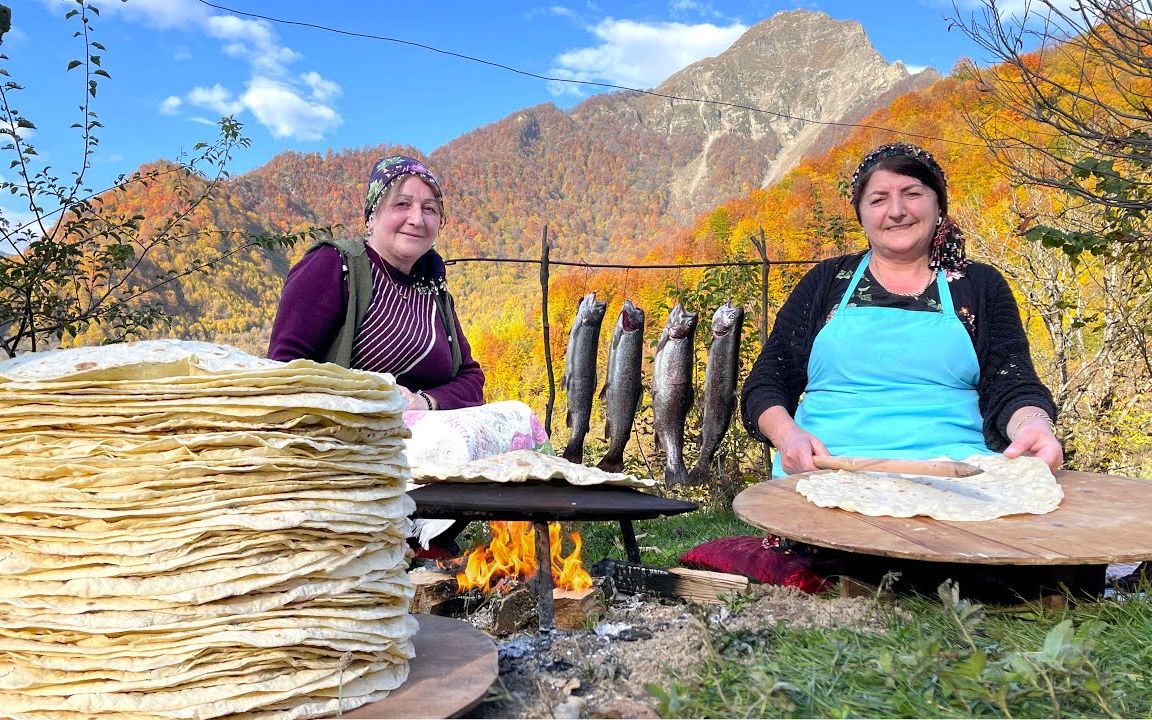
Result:
{"label": "dark red cushion on the grass beside the round wooden board", "polygon": [[829,581],[812,569],[812,559],[774,547],[779,538],[741,535],[697,545],[680,556],[680,564],[697,570],[743,575],[770,585],[804,592],[824,592]]}

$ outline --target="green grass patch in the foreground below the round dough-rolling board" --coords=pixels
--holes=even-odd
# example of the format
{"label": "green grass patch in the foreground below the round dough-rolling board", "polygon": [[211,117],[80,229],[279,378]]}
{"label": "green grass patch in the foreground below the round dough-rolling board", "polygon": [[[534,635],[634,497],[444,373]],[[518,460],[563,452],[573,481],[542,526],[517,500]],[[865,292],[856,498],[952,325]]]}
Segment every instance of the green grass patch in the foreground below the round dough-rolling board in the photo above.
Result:
{"label": "green grass patch in the foreground below the round dough-rolling board", "polygon": [[1146,598],[988,615],[942,586],[877,604],[884,631],[715,624],[694,670],[649,690],[683,718],[1149,717]]}

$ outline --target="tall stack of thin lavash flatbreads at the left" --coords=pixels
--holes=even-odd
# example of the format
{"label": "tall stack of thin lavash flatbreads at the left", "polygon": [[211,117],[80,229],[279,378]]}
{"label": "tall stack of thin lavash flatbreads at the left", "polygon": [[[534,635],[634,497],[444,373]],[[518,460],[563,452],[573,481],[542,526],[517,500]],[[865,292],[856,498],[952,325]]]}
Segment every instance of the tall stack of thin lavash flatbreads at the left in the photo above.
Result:
{"label": "tall stack of thin lavash flatbreads at the left", "polygon": [[145,341],[0,363],[0,717],[317,718],[408,676],[389,376]]}

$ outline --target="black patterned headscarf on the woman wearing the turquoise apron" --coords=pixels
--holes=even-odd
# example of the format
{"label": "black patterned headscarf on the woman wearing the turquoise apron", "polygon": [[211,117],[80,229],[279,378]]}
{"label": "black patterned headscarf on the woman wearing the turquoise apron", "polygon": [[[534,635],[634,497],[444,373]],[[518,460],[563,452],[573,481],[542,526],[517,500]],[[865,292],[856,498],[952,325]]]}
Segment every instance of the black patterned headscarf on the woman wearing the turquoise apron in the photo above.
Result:
{"label": "black patterned headscarf on the woman wearing the turquoise apron", "polygon": [[932,236],[929,267],[943,270],[950,278],[962,276],[971,260],[964,253],[964,233],[948,217],[948,179],[940,164],[929,151],[911,143],[888,143],[864,156],[852,173],[852,207],[857,220],[861,219],[861,192],[872,173],[879,169],[915,177],[932,188],[940,204],[940,218]]}

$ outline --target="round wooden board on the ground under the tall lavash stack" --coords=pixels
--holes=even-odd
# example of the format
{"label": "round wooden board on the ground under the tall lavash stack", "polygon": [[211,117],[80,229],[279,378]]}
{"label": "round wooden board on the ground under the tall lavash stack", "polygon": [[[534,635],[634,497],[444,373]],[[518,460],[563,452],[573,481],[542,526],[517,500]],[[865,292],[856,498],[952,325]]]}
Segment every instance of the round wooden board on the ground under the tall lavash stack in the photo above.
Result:
{"label": "round wooden board on the ground under the tall lavash stack", "polygon": [[388,697],[341,718],[455,718],[475,707],[499,675],[497,646],[463,620],[416,615],[416,658],[408,680]]}

